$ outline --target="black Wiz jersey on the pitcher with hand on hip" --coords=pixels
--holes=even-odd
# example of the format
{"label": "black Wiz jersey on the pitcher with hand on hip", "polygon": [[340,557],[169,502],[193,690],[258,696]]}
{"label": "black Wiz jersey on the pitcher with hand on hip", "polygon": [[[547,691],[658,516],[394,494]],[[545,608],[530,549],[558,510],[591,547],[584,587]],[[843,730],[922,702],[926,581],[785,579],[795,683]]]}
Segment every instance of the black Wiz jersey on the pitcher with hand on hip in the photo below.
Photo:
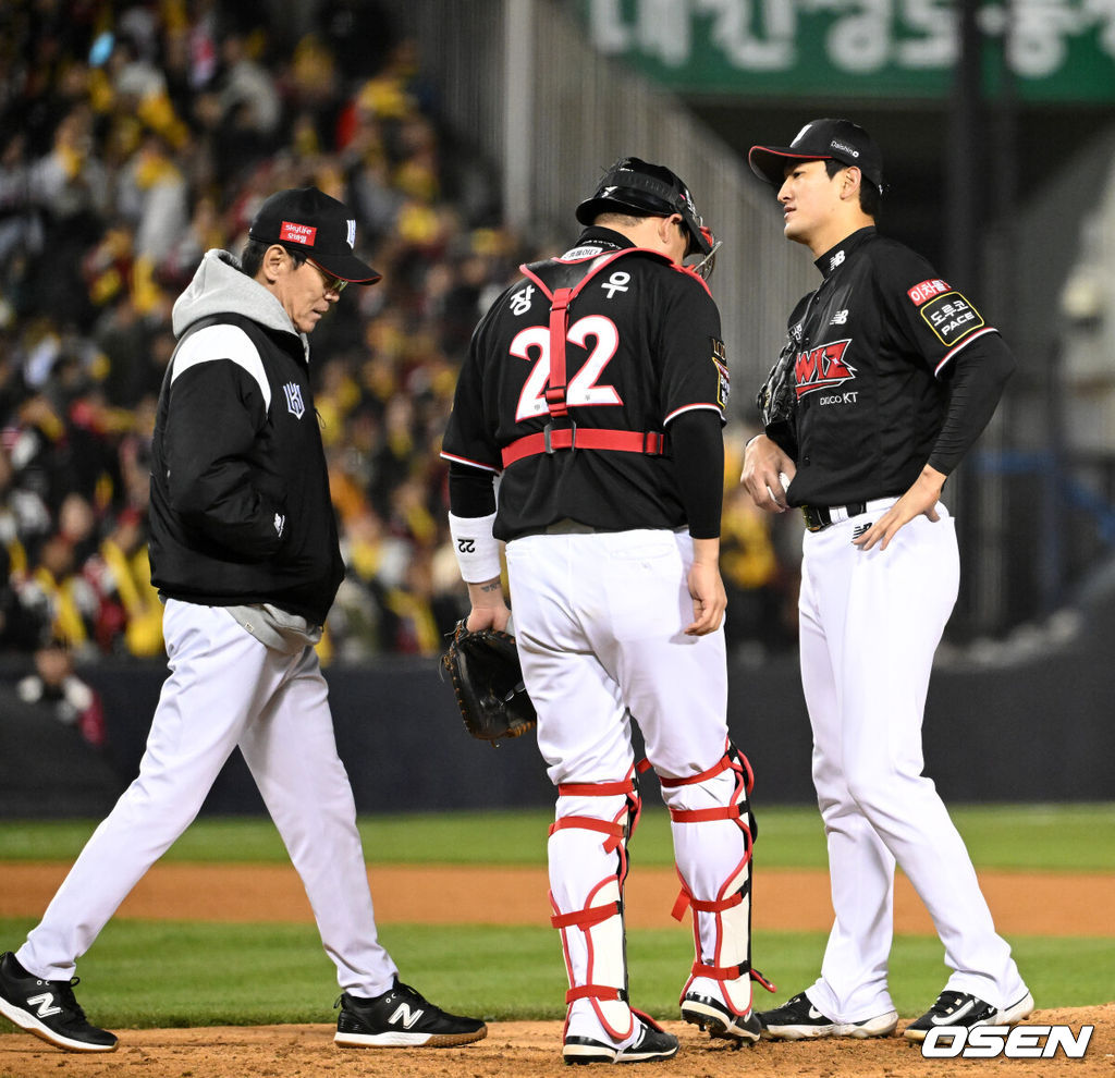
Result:
{"label": "black Wiz jersey on the pitcher with hand on hip", "polygon": [[941,431],[950,363],[997,331],[925,259],[874,227],[816,265],[824,281],[789,318],[797,464],[789,502],[904,494]]}

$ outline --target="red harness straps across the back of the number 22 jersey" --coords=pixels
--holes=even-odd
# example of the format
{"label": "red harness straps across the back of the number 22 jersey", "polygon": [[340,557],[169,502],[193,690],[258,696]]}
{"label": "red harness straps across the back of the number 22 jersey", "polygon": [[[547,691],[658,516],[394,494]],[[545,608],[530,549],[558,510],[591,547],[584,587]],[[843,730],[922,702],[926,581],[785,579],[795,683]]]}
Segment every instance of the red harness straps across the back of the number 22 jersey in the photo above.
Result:
{"label": "red harness straps across the back of the number 22 jersey", "polygon": [[[660,430],[610,430],[603,427],[578,427],[569,419],[569,389],[565,377],[565,339],[569,333],[569,305],[581,290],[605,266],[628,254],[646,254],[673,263],[658,251],[647,247],[624,247],[594,258],[586,273],[575,276],[581,270],[578,262],[562,262],[552,259],[546,262],[524,264],[518,269],[529,276],[550,300],[550,378],[546,382],[545,401],[550,421],[534,434],[524,435],[504,446],[503,466],[545,453],[553,455],[559,449],[611,449],[620,453],[641,453],[659,457],[666,451],[666,435]],[[547,282],[542,274],[551,280]],[[561,283],[559,283],[561,282]],[[554,426],[554,419],[569,419],[569,426]]]}

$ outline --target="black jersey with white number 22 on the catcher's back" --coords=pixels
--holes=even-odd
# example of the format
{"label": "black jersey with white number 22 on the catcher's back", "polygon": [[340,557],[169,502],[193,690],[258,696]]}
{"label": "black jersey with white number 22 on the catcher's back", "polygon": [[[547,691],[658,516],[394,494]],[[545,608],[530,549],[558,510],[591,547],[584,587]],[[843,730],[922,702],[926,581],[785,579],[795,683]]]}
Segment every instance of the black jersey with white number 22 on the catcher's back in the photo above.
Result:
{"label": "black jersey with white number 22 on the catcher's back", "polygon": [[[540,282],[578,282],[599,260],[607,264],[569,305],[568,415],[551,416],[551,301]],[[610,531],[685,525],[669,425],[694,409],[710,409],[723,424],[728,395],[720,315],[707,285],[601,227],[529,270],[473,334],[442,456],[502,474],[496,538],[563,518]],[[575,425],[574,448],[507,459],[524,437],[541,443],[547,425]],[[603,430],[647,435],[653,445],[665,434],[665,455],[576,448],[585,431]]]}

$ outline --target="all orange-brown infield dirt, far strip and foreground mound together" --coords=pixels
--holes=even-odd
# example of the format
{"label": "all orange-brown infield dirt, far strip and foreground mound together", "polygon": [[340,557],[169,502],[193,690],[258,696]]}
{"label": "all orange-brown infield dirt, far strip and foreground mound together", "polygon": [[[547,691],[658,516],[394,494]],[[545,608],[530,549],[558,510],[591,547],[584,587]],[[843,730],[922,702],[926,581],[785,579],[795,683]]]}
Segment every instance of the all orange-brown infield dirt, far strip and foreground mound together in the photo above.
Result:
{"label": "all orange-brown infield dirt, far strip and foreground mound together", "polygon": [[[55,863],[6,864],[0,915],[41,913],[67,868]],[[545,924],[549,916],[543,868],[377,865],[370,877],[377,919],[385,924]],[[980,881],[996,922],[1008,936],[1115,935],[1111,917],[1115,877],[1111,875],[985,872]],[[768,870],[756,873],[755,890],[757,929],[828,928],[832,909],[824,872]],[[675,923],[668,911],[676,893],[672,872],[632,871],[629,924],[663,928]],[[493,902],[495,894],[498,903]],[[476,909],[469,909],[468,895],[477,896]],[[309,917],[309,904],[289,866],[168,864],[147,874],[118,916],[303,921]],[[932,931],[901,877],[895,888],[895,926],[902,933]],[[660,1078],[1115,1078],[1115,1003],[1039,1010],[1028,1023],[1065,1023],[1074,1030],[1094,1024],[1086,1058],[924,1059],[919,1047],[903,1037],[760,1041],[735,1051],[692,1026],[666,1022],[680,1038],[681,1050],[672,1060],[641,1066],[636,1072]],[[332,1035],[331,1024],[124,1030],[119,1050],[106,1056],[60,1052],[26,1035],[0,1036],[0,1078],[543,1078],[571,1074],[561,1060],[560,1022],[493,1022],[485,1040],[447,1049],[340,1049]]]}

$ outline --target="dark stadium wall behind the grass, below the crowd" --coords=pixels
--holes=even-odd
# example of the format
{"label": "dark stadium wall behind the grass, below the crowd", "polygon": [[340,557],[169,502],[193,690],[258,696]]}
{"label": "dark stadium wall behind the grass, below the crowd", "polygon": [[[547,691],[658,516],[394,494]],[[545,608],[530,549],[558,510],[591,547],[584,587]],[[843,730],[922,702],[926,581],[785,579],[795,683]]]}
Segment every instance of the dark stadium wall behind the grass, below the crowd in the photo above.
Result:
{"label": "dark stadium wall behind the grass, below the crowd", "polygon": [[[939,664],[925,717],[927,774],[950,802],[1080,802],[1115,798],[1111,760],[1112,587],[1084,609],[1072,638],[1034,640],[998,658]],[[1106,598],[1105,598],[1106,595]],[[166,676],[161,663],[83,671],[101,695],[107,754],[0,688],[0,816],[103,814],[136,774]],[[811,738],[793,652],[729,669],[733,737],[756,774],[756,804],[811,804]],[[361,813],[541,806],[552,802],[534,739],[498,748],[465,732],[436,660],[384,659],[332,668],[337,741]],[[644,795],[658,798],[655,784]],[[207,814],[262,813],[235,754]]]}

